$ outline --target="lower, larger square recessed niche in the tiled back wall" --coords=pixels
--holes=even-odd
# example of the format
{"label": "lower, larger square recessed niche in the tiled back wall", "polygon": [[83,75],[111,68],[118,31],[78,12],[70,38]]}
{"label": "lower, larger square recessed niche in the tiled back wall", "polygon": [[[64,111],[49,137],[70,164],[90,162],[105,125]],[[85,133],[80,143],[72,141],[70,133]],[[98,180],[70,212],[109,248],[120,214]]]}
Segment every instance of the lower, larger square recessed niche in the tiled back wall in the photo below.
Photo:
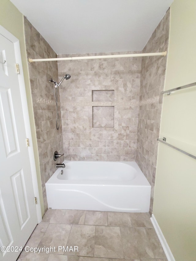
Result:
{"label": "lower, larger square recessed niche in the tiled back wall", "polygon": [[114,106],[92,106],[92,127],[114,127]]}

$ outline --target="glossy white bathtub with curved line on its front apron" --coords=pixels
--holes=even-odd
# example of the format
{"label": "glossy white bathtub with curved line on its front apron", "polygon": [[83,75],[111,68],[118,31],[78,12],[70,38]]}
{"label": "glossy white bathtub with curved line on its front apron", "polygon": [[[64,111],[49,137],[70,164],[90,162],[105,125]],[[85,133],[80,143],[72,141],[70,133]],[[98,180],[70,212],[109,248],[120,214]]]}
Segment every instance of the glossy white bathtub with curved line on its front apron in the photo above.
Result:
{"label": "glossy white bathtub with curved line on its front apron", "polygon": [[149,212],[151,186],[136,162],[64,163],[46,183],[49,208]]}

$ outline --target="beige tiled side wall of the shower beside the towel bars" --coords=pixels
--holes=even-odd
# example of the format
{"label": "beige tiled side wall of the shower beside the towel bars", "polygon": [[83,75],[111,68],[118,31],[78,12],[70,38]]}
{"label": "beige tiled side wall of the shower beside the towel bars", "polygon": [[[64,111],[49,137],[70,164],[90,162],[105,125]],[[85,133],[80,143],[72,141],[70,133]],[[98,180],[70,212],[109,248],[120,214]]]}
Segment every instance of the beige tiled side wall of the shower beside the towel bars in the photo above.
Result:
{"label": "beige tiled side wall of the shower beside the towel bars", "polygon": [[[153,32],[142,53],[168,50],[169,17],[167,11]],[[152,186],[151,205],[153,207],[154,183],[157,163],[157,138],[160,132],[166,57],[143,57],[141,60],[141,84],[139,99],[139,120],[136,162]]]}

